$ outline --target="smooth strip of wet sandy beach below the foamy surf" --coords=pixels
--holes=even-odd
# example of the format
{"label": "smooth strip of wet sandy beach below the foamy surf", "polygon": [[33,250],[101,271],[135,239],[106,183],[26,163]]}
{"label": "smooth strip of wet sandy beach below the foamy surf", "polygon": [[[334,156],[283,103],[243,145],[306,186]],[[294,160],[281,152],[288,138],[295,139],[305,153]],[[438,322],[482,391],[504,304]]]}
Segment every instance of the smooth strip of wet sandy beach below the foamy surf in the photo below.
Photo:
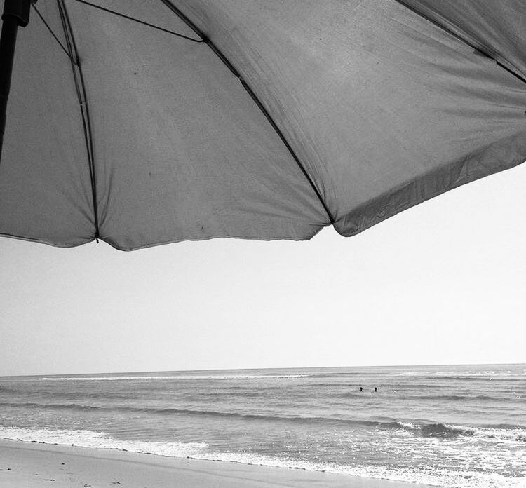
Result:
{"label": "smooth strip of wet sandy beach below the foamy surf", "polygon": [[0,440],[2,488],[423,488],[316,471]]}

